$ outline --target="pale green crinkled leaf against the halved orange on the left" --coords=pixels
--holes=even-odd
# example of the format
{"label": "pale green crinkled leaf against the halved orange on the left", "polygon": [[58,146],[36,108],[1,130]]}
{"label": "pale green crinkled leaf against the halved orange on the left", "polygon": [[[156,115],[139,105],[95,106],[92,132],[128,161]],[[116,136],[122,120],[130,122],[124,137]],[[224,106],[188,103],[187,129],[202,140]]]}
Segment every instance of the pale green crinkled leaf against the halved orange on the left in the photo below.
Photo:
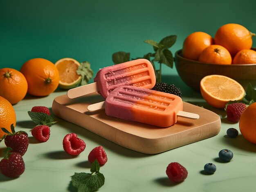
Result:
{"label": "pale green crinkled leaf against the halved orange on the left", "polygon": [[93,77],[93,71],[91,69],[90,62],[88,61],[81,62],[80,66],[78,66],[78,69],[76,70],[76,73],[82,76],[80,86],[88,84],[90,79],[92,79]]}

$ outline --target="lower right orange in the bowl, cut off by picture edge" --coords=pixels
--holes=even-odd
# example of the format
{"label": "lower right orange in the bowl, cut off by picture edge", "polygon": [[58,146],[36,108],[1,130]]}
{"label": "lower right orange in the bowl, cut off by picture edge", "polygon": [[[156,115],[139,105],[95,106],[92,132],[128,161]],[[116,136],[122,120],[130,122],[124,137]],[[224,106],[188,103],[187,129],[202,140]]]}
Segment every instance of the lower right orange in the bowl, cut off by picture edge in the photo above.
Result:
{"label": "lower right orange in the bowl, cut off by picture edge", "polygon": [[255,64],[256,51],[252,49],[243,49],[236,53],[233,59],[233,64]]}

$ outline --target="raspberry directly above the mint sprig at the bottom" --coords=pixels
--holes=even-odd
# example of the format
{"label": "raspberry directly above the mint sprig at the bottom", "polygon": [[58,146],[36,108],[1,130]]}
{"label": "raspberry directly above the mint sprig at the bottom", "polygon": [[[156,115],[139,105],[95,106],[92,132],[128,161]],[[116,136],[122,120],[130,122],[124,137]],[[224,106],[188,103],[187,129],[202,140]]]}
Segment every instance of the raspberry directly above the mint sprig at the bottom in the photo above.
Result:
{"label": "raspberry directly above the mint sprig at the bottom", "polygon": [[100,165],[104,165],[108,161],[106,152],[102,146],[95,147],[88,155],[88,161],[93,163],[97,159]]}

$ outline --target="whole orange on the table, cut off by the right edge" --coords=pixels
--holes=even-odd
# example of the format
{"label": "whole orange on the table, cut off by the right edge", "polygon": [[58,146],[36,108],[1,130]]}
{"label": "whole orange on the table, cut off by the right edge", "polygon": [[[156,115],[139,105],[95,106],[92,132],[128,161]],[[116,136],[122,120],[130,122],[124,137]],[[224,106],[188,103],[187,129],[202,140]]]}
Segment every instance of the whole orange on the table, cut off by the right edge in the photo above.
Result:
{"label": "whole orange on the table, cut off by the right edge", "polygon": [[256,103],[249,105],[239,119],[239,129],[243,137],[256,144]]}

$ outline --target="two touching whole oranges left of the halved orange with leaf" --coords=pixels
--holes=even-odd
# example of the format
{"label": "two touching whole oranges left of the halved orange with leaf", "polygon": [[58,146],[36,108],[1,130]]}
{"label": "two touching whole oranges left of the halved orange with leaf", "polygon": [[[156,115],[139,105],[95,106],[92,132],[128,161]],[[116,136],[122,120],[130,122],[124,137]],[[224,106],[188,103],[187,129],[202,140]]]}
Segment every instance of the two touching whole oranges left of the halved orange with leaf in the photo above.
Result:
{"label": "two touching whole oranges left of the halved orange with leaf", "polygon": [[20,102],[27,93],[46,96],[58,87],[59,73],[56,66],[42,58],[25,62],[20,71],[13,68],[0,69],[0,96],[11,104]]}

